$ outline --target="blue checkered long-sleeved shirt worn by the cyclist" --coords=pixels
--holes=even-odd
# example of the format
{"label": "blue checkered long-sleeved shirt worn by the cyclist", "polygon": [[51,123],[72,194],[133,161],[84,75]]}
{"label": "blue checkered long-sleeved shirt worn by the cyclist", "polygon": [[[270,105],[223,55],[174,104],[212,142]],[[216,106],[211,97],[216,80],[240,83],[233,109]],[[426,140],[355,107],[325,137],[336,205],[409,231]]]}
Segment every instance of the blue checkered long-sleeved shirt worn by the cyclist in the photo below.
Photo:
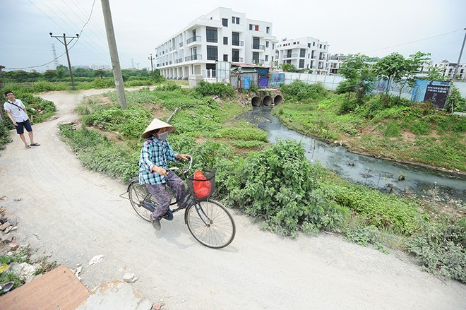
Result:
{"label": "blue checkered long-sleeved shirt worn by the cyclist", "polygon": [[139,184],[163,184],[165,177],[153,172],[154,166],[168,169],[168,160],[177,162],[177,154],[173,152],[167,140],[159,141],[148,138],[141,149],[139,158]]}

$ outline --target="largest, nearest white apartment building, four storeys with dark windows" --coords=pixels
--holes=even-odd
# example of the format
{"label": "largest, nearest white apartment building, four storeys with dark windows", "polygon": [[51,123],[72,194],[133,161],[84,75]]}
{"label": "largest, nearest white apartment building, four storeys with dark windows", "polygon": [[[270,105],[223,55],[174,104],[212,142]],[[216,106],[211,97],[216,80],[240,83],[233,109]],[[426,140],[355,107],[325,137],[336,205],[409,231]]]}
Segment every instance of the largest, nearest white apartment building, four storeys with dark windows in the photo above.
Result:
{"label": "largest, nearest white apartment building, four storeys with dark windows", "polygon": [[155,68],[165,78],[215,77],[216,61],[260,64],[274,61],[272,23],[216,8],[155,48]]}

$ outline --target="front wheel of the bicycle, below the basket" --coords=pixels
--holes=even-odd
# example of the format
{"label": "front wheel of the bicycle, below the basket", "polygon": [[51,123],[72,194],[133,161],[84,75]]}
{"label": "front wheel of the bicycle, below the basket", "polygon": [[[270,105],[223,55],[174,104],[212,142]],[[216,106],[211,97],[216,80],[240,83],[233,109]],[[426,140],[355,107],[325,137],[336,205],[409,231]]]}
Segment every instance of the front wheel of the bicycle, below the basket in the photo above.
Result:
{"label": "front wheel of the bicycle, below the basket", "polygon": [[196,202],[186,209],[189,232],[201,244],[221,249],[231,244],[236,234],[232,215],[218,201]]}

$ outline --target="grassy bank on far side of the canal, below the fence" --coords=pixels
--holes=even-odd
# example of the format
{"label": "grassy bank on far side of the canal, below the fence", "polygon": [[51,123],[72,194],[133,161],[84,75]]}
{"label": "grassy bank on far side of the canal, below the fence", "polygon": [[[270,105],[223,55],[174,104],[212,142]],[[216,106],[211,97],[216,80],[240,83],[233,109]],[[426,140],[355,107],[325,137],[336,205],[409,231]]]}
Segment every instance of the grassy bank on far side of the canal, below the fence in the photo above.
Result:
{"label": "grassy bank on far side of the canal, below the fence", "polygon": [[313,95],[283,90],[286,102],[273,113],[289,128],[357,153],[466,172],[466,117],[395,97],[368,96],[358,105],[318,85],[294,88]]}

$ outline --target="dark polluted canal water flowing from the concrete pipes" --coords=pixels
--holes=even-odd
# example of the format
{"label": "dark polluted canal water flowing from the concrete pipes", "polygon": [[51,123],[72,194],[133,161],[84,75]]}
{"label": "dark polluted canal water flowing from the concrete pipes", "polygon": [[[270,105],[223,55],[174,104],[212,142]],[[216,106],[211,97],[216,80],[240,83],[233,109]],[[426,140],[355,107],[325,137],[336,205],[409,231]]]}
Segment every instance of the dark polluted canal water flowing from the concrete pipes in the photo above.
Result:
{"label": "dark polluted canal water flowing from the concrete pipes", "polygon": [[[246,119],[267,131],[269,141],[272,143],[275,143],[277,138],[301,142],[306,149],[308,160],[321,162],[323,167],[336,172],[345,179],[386,191],[391,189],[420,196],[436,195],[444,199],[466,200],[466,175],[464,174],[453,174],[351,153],[345,147],[318,141],[287,129],[270,113],[270,110],[271,107],[256,107],[241,114],[239,118]],[[399,181],[400,176],[405,176],[405,179]]]}

